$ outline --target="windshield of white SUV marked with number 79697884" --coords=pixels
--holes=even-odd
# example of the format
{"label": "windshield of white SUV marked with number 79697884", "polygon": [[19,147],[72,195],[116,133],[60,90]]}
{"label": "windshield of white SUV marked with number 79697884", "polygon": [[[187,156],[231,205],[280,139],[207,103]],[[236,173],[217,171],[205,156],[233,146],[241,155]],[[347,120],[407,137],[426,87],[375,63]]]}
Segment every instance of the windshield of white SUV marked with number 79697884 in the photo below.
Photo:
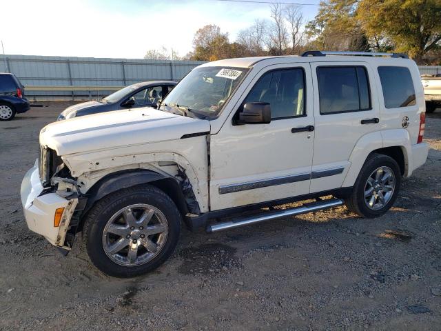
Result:
{"label": "windshield of white SUV marked with number 79697884", "polygon": [[247,71],[247,68],[231,67],[196,68],[167,94],[160,109],[173,112],[173,108],[180,108],[196,117],[213,119],[243,81]]}

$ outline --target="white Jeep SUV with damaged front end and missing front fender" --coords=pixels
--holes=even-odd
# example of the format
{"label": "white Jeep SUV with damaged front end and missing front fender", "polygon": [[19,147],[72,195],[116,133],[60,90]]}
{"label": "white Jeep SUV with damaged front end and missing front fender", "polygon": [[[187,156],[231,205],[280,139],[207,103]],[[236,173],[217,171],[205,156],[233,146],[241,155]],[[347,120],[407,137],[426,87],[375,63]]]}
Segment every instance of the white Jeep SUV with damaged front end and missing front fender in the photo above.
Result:
{"label": "white Jeep SUV with damaged front end and missing front fender", "polygon": [[82,232],[97,268],[134,277],[170,257],[181,222],[216,232],[343,204],[379,217],[427,159],[424,115],[418,67],[402,54],[205,63],[158,109],[43,128],[21,184],[25,219],[64,252]]}

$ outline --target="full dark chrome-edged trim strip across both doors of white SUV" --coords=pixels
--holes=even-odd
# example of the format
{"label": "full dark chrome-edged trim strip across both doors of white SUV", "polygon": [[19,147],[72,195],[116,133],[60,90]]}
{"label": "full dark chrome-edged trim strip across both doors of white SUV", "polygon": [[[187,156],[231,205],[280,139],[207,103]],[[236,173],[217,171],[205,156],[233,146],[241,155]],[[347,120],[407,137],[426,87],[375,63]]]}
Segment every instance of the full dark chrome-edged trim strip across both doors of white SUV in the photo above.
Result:
{"label": "full dark chrome-edged trim strip across both doors of white SUV", "polygon": [[261,181],[246,181],[244,183],[220,185],[218,190],[219,194],[254,190],[255,188],[266,188],[268,186],[283,185],[288,183],[296,183],[297,181],[308,181],[309,179],[334,176],[336,174],[341,174],[343,170],[345,170],[345,167],[316,170],[302,174],[290,174],[288,176],[263,179]]}

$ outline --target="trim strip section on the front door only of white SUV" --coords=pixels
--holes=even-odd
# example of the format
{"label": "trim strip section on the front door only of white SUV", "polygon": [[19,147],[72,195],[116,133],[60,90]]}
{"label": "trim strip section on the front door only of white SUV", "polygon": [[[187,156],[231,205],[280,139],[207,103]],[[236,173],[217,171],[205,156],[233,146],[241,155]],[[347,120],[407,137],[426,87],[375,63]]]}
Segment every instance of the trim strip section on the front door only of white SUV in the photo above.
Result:
{"label": "trim strip section on the front door only of white SUV", "polygon": [[219,194],[253,190],[254,188],[266,188],[267,186],[295,183],[296,181],[307,181],[310,178],[311,172],[305,172],[304,174],[290,174],[283,177],[264,179],[263,181],[247,181],[245,183],[222,185],[219,186]]}

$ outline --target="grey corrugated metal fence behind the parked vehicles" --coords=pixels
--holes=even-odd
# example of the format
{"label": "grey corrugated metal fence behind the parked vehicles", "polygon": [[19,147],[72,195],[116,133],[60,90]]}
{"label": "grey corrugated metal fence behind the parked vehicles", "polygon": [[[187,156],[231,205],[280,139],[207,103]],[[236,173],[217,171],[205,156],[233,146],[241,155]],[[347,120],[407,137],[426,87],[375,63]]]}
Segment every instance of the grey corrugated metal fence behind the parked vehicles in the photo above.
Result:
{"label": "grey corrugated metal fence behind the parked vehicles", "polygon": [[[182,79],[204,61],[107,59],[0,55],[0,72],[12,72],[24,86],[127,86],[139,81]],[[441,66],[418,66],[421,74],[441,74]],[[93,92],[103,97],[110,91]],[[81,91],[28,91],[29,99],[85,99]]]}

